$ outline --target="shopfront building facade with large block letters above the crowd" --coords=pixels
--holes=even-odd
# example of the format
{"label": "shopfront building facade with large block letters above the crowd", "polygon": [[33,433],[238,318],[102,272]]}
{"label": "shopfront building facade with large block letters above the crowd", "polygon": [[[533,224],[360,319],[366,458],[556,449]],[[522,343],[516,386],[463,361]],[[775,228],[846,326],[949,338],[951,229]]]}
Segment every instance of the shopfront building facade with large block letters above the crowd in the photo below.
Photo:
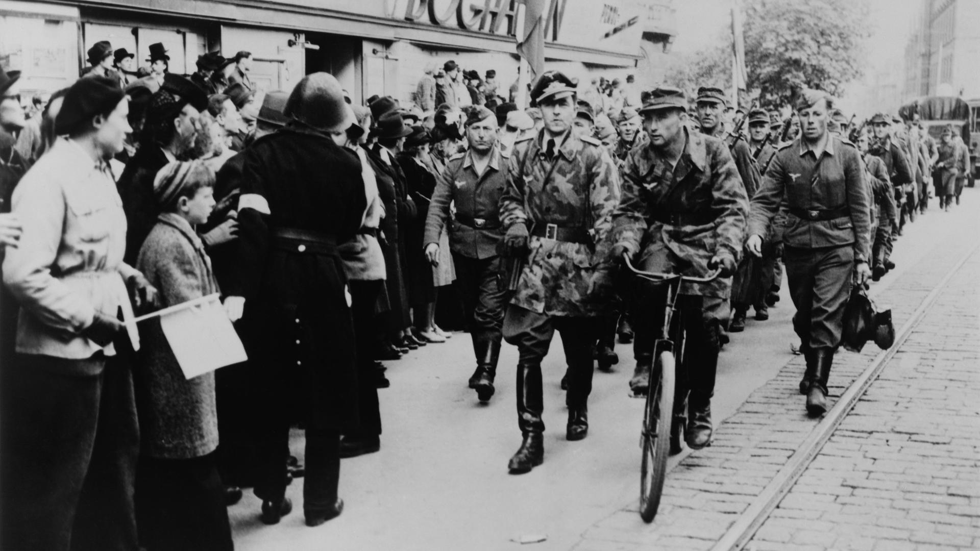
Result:
{"label": "shopfront building facade with large block letters above the crowd", "polygon": [[[519,0],[0,0],[0,65],[23,72],[25,93],[70,84],[99,40],[136,53],[162,42],[170,71],[195,71],[197,56],[253,53],[260,89],[291,89],[326,71],[354,101],[371,95],[413,100],[428,67],[453,59],[466,70],[497,72],[507,90],[519,65]],[[662,67],[674,34],[671,0],[546,0],[549,67],[579,79]]]}

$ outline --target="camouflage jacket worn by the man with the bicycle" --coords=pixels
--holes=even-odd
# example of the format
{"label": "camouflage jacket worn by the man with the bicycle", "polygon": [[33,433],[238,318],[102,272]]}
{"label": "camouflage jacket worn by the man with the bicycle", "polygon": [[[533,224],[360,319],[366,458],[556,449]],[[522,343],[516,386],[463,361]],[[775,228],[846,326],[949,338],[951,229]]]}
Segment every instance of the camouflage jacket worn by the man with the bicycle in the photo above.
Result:
{"label": "camouflage jacket worn by the man with the bicycle", "polygon": [[[749,198],[727,144],[686,129],[684,133],[687,145],[673,171],[650,145],[630,152],[622,199],[613,215],[613,242],[624,245],[631,256],[642,251],[638,260],[666,245],[689,263],[682,274],[701,276],[711,272],[708,263],[720,249],[738,261]],[[719,298],[730,292],[731,278],[681,287],[683,294]]]}

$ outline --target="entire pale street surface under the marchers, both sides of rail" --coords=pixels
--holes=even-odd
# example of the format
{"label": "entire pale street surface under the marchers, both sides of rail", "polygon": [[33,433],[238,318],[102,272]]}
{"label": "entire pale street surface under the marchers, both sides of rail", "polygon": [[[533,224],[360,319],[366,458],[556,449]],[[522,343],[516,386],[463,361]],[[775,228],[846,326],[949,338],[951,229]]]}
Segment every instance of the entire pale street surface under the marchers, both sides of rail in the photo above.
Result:
{"label": "entire pale street surface under the marchers, both sides of rail", "polygon": [[[967,401],[978,385],[980,256],[971,240],[956,238],[980,233],[974,198],[968,190],[953,213],[933,210],[908,227],[896,249],[898,269],[871,289],[878,304],[893,308],[897,329],[968,260],[746,549],[971,549],[980,542],[980,421]],[[517,444],[512,372],[500,377],[489,406],[477,405],[455,365],[468,353],[468,335],[460,333],[391,365],[392,388],[381,391],[382,449],[344,462],[348,508],[337,522],[302,529],[296,517],[262,526],[249,492],[230,510],[236,547],[711,549],[817,426],[796,389],[803,358],[788,353],[792,311],[784,288],[772,319],[750,322],[726,347],[714,443],[671,458],[651,525],[636,513],[642,402],[625,398],[629,347],[617,347],[615,374],[596,375],[589,438],[566,442],[553,428],[545,465],[508,476],[506,459]],[[873,343],[860,354],[842,351],[831,399],[879,353]],[[514,361],[505,347],[502,366]],[[564,421],[563,364],[552,354],[545,372],[545,421],[553,427]],[[301,434],[293,440],[301,455]],[[301,488],[299,480],[289,487],[294,500]],[[522,535],[546,539],[519,546],[513,540]]]}

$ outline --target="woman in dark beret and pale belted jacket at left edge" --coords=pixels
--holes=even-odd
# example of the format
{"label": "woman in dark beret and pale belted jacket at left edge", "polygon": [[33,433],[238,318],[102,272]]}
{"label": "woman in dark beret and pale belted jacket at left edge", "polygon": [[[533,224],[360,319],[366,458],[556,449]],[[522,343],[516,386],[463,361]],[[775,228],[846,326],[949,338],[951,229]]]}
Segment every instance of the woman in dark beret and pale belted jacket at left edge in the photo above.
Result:
{"label": "woman in dark beret and pale belted jacket at left edge", "polygon": [[[135,550],[133,406],[126,286],[136,306],[156,289],[123,263],[126,222],[106,159],[130,131],[115,81],[77,80],[59,139],[24,176],[13,212],[24,234],[4,282],[21,303],[17,352],[0,386],[0,523],[5,550]],[[120,338],[120,337],[123,338]],[[122,354],[121,354],[122,353]]]}

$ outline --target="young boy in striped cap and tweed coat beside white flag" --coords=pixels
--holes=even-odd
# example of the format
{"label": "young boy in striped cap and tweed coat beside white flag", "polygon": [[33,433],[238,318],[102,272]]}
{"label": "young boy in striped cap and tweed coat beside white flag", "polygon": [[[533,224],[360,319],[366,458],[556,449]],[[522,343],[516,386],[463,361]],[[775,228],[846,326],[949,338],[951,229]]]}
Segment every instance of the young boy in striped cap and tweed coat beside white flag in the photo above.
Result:
{"label": "young boy in striped cap and tweed coat beside white flag", "polygon": [[[215,174],[201,161],[174,161],[157,173],[160,211],[139,250],[137,269],[160,292],[161,308],[219,292],[195,227],[215,208]],[[140,326],[135,377],[141,451],[136,522],[148,549],[232,549],[218,474],[215,373],[186,378],[159,320]]]}

